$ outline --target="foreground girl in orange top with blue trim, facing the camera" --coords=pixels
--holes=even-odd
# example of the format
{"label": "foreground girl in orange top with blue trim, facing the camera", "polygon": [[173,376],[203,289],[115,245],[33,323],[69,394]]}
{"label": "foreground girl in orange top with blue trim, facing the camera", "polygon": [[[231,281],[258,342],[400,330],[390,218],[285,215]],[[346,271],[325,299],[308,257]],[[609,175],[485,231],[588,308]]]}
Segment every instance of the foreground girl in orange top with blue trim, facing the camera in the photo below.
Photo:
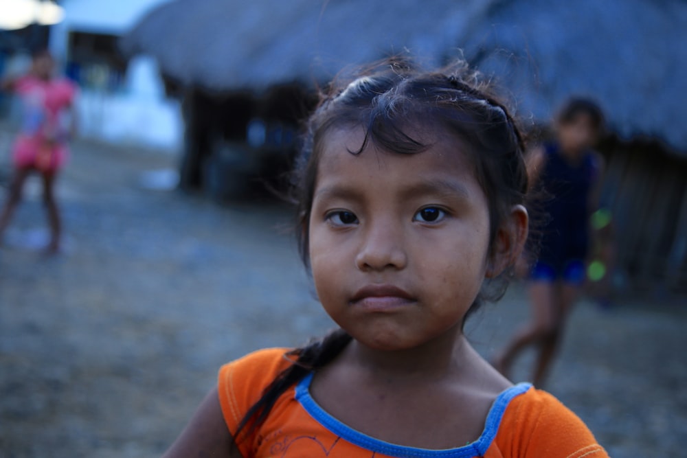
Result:
{"label": "foreground girl in orange top with blue trim, facing the camera", "polygon": [[606,457],[462,330],[527,236],[506,108],[462,65],[333,84],[295,172],[300,246],[339,325],[222,367],[166,457]]}

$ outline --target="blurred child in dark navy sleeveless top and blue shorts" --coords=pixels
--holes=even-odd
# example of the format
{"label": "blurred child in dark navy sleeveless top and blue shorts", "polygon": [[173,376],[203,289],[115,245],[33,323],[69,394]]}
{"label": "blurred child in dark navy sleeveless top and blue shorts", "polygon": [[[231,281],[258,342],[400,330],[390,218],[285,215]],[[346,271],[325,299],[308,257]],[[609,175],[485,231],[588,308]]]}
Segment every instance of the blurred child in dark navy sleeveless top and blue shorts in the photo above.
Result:
{"label": "blurred child in dark navy sleeveless top and blue shorts", "polygon": [[497,358],[508,374],[513,359],[528,345],[538,345],[532,381],[541,387],[556,352],[567,314],[586,278],[590,216],[598,206],[602,161],[590,148],[603,125],[600,108],[586,99],[569,100],[556,119],[557,141],[530,155],[530,181],[548,194],[543,213],[539,257],[530,273],[532,323],[515,336]]}

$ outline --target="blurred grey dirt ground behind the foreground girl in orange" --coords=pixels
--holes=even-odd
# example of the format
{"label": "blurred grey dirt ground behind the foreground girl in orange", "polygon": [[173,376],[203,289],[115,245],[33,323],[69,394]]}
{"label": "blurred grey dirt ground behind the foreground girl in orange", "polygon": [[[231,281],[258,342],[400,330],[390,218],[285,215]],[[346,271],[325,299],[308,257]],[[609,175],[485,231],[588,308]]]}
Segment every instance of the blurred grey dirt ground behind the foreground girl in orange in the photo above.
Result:
{"label": "blurred grey dirt ground behind the foreground girl in orange", "polygon": [[[0,154],[8,138],[0,130]],[[174,161],[78,141],[58,189],[65,253],[51,259],[38,251],[45,221],[29,183],[0,249],[1,457],[159,456],[222,363],[330,327],[297,259],[289,209],[219,207],[143,186]],[[467,330],[491,356],[527,316],[513,285]],[[549,389],[613,457],[684,456],[686,325],[681,299],[610,310],[583,301]],[[530,360],[515,378],[526,379]]]}

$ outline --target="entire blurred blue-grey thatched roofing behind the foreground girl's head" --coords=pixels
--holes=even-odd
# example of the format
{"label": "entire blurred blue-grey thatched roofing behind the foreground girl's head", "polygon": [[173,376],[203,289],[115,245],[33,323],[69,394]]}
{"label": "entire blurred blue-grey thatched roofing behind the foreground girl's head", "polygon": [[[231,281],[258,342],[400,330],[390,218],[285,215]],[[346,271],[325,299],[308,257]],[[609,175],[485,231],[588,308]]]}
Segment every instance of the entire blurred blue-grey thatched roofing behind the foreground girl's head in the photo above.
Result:
{"label": "entire blurred blue-grey thatched roofing behind the foreground girl's head", "polygon": [[427,65],[464,51],[520,115],[550,117],[572,93],[625,137],[687,152],[687,3],[680,0],[176,0],[124,38],[168,75],[216,89],[330,79],[409,50]]}

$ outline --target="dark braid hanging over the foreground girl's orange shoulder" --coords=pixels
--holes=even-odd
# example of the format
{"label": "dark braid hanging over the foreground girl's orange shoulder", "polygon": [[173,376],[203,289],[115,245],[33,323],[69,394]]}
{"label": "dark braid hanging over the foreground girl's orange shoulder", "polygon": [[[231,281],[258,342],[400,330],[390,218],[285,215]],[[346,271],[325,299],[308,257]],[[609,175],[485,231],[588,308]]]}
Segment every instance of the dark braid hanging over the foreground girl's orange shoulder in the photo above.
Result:
{"label": "dark braid hanging over the foreground girl's orange shoulder", "polygon": [[[238,443],[254,433],[267,419],[267,415],[284,391],[300,382],[309,372],[330,363],[339,356],[350,341],[351,336],[338,328],[320,339],[314,339],[304,347],[286,353],[284,357],[291,360],[292,364],[264,389],[262,397],[248,409],[236,429],[234,441]],[[293,359],[291,356],[297,356],[297,358]],[[242,433],[246,426],[248,426],[247,431]]]}

